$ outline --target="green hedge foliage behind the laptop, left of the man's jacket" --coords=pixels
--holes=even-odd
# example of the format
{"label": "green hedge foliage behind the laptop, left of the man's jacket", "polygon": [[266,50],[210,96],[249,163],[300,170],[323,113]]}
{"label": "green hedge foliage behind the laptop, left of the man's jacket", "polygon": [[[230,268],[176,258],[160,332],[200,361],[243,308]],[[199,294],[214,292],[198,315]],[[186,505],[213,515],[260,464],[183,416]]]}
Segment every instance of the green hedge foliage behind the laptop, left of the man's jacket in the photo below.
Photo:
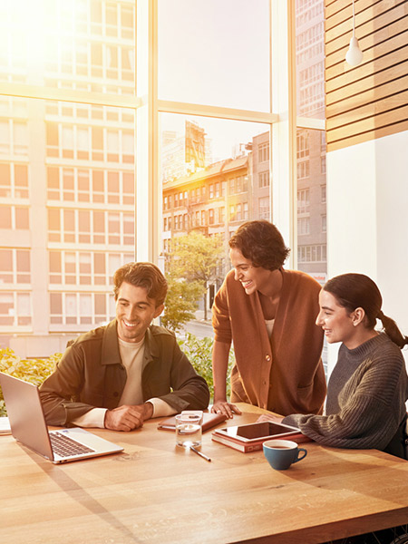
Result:
{"label": "green hedge foliage behind the laptop, left of the man's jacket", "polygon": [[[0,349],[0,371],[21,378],[24,382],[41,385],[61,359],[63,354],[54,354],[47,359],[21,359],[10,348]],[[0,416],[6,415],[5,400],[0,388]]]}

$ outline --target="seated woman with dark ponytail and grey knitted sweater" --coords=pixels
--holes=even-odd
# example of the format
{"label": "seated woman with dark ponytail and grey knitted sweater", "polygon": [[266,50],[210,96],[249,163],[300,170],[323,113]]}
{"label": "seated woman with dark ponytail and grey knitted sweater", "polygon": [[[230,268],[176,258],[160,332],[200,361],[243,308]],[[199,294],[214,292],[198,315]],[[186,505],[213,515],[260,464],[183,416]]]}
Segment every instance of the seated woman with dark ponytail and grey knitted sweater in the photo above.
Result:
{"label": "seated woman with dark ponytail and grey knitted sweater", "polygon": [[[382,302],[374,281],[362,274],[343,274],[325,284],[316,325],[328,343],[342,342],[328,384],[326,414],[297,413],[283,423],[325,446],[375,448],[406,459],[408,378],[401,349],[408,337],[384,316]],[[384,332],[374,330],[377,319]]]}

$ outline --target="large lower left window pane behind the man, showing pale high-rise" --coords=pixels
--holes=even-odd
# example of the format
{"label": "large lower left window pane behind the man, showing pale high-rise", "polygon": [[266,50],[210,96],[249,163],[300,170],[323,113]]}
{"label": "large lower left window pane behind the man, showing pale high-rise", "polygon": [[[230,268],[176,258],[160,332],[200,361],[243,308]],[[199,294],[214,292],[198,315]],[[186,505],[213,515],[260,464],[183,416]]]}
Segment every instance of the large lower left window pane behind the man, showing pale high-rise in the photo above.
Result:
{"label": "large lower left window pane behind the man, showing pale high-rise", "polygon": [[1,347],[44,335],[41,354],[18,354],[44,355],[50,333],[64,345],[110,320],[110,265],[134,259],[134,115],[0,97],[9,142],[0,149]]}

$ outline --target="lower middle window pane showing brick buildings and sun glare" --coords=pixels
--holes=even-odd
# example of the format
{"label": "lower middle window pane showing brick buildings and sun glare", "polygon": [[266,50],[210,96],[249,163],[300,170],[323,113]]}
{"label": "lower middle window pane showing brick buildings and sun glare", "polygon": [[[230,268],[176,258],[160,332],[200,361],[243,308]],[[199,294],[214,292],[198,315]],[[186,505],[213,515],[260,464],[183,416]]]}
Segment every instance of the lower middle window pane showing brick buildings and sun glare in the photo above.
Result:
{"label": "lower middle window pane showing brick buildings and sun glare", "polygon": [[[217,238],[221,248],[207,277],[196,275],[206,288],[198,314],[205,318],[230,268],[229,238],[244,221],[272,219],[269,125],[162,114],[160,126],[165,268],[186,236],[199,235],[201,246]],[[197,250],[189,258],[201,262]]]}

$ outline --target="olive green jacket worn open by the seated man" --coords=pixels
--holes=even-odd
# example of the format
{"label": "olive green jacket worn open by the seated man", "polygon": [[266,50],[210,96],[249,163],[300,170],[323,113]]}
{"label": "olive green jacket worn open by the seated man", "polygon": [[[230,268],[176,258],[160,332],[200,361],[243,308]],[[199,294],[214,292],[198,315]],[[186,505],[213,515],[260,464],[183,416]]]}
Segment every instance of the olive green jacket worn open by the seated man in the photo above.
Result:
{"label": "olive green jacket worn open by the seated man", "polygon": [[[72,426],[92,408],[116,408],[126,378],[114,319],[79,336],[41,385],[46,422]],[[209,404],[206,381],[182,353],[176,337],[161,326],[151,325],[146,331],[141,386],[143,401],[157,397],[177,412],[204,410]]]}

